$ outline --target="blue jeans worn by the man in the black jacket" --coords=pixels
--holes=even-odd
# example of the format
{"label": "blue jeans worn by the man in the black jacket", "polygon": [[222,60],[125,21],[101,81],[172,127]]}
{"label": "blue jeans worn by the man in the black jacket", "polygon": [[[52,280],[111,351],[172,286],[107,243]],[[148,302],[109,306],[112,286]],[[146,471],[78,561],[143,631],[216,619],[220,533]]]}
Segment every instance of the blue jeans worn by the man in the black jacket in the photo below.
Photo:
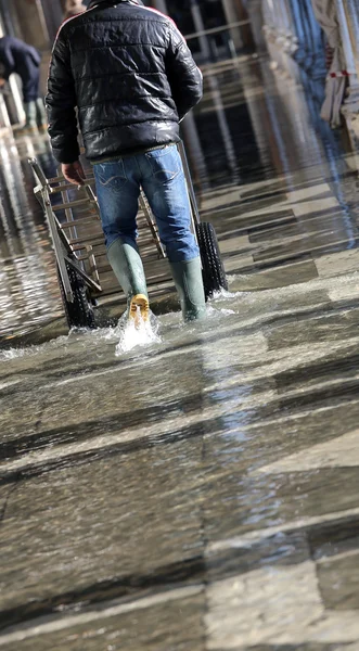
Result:
{"label": "blue jeans worn by the man in the black jacket", "polygon": [[98,163],[94,178],[107,248],[118,238],[136,247],[136,217],[142,187],[169,261],[181,263],[200,255],[190,228],[191,212],[182,162],[175,144]]}

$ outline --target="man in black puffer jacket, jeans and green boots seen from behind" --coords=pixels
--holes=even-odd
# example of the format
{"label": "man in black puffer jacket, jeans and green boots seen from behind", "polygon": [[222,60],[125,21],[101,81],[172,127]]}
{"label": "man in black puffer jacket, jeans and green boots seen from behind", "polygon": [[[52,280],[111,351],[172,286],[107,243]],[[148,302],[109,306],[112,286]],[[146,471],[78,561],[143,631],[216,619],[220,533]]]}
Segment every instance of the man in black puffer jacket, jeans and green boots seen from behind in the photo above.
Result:
{"label": "man in black puffer jacket, jeans and green boots seen from behind", "polygon": [[185,320],[205,315],[198,247],[181,158],[179,122],[202,98],[202,74],[176,25],[140,0],[91,0],[61,27],[52,53],[49,133],[65,178],[84,182],[77,120],[94,166],[107,256],[129,315],[149,315],[137,246],[142,188]]}

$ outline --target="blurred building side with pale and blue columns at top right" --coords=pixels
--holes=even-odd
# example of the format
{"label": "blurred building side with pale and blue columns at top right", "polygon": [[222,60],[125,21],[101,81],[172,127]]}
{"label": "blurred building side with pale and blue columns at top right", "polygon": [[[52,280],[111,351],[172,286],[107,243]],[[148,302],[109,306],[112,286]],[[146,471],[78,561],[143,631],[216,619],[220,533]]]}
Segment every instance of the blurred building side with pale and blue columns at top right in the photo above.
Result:
{"label": "blurred building side with pale and blue columns at top right", "polygon": [[[249,0],[251,2],[251,0]],[[275,66],[325,99],[321,117],[347,125],[359,150],[358,0],[262,0],[264,31]]]}

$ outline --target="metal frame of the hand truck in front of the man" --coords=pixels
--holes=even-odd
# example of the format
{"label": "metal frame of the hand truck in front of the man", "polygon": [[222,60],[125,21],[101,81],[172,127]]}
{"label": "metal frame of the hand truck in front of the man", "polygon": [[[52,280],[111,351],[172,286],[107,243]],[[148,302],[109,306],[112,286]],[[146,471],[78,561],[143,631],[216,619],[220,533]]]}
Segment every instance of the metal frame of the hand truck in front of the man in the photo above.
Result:
{"label": "metal frame of the hand truck in front of the man", "polygon": [[[180,153],[183,171],[187,180],[187,188],[189,193],[189,200],[191,205],[191,214],[192,214],[192,230],[195,237],[198,240],[200,248],[201,245],[206,246],[208,250],[206,254],[202,254],[202,264],[203,267],[208,266],[207,258],[217,259],[217,266],[221,265],[218,244],[216,241],[216,235],[214,230],[211,232],[205,233],[207,237],[207,242],[204,239],[203,232],[201,231],[201,217],[198,212],[198,206],[195,197],[195,192],[192,183],[191,171],[189,167],[189,162],[185,154],[185,149],[183,142],[180,141],[178,143],[178,151]],[[94,179],[93,177],[88,177],[86,179],[86,184],[77,188],[79,192],[85,193],[85,196],[81,199],[70,200],[68,196],[69,191],[76,192],[76,186],[67,183],[61,174],[55,178],[48,179],[38,163],[37,158],[30,158],[29,165],[33,168],[34,175],[37,179],[38,184],[34,189],[34,193],[38,201],[40,202],[49,226],[50,237],[53,244],[53,250],[55,253],[55,258],[59,267],[59,275],[63,285],[64,296],[68,303],[74,302],[74,292],[70,283],[70,279],[68,276],[68,267],[74,269],[82,279],[87,288],[89,289],[90,294],[94,294],[97,296],[103,294],[103,288],[101,285],[100,276],[97,266],[95,255],[93,253],[93,246],[90,243],[86,244],[86,240],[81,241],[81,238],[76,238],[76,228],[80,224],[84,226],[86,222],[92,222],[93,220],[100,220],[100,208],[93,192]],[[55,194],[61,193],[62,203],[53,204],[51,197]],[[142,209],[142,215],[144,216],[144,224],[146,228],[150,230],[152,235],[152,241],[156,246],[158,258],[165,258],[166,253],[162,245],[162,242],[158,237],[158,231],[156,227],[156,222],[152,210],[150,208],[149,202],[143,192],[140,194],[140,207]],[[73,210],[86,206],[90,213],[89,216],[85,217],[85,219],[76,220],[74,219]],[[56,213],[63,210],[66,216],[66,220],[61,222],[57,218]],[[202,225],[203,227],[211,227],[211,225]],[[68,234],[67,232],[68,231]],[[102,232],[102,231],[101,231]],[[74,237],[75,234],[75,237]],[[208,244],[209,237],[209,244]],[[211,242],[214,240],[214,242]],[[82,243],[81,243],[82,242]],[[86,251],[86,255],[77,255],[77,252]],[[88,261],[88,265],[91,270],[91,275],[86,270],[85,260]],[[218,261],[219,260],[219,261]],[[217,285],[214,289],[220,289],[223,286],[227,289],[226,275],[219,270],[220,279],[217,279]],[[210,289],[210,288],[209,288]],[[210,295],[210,292],[208,293]]]}

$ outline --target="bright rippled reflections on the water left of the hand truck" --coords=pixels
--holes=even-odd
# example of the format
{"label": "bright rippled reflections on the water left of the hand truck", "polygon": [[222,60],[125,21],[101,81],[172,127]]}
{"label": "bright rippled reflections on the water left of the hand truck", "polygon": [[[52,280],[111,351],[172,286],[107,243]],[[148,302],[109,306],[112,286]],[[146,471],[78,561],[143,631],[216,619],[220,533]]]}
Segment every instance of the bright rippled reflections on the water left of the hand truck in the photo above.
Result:
{"label": "bright rippled reflections on the water left of the hand truck", "polygon": [[54,257],[27,158],[37,155],[52,176],[55,166],[47,142],[0,144],[0,323],[1,335],[26,331],[61,314]]}

